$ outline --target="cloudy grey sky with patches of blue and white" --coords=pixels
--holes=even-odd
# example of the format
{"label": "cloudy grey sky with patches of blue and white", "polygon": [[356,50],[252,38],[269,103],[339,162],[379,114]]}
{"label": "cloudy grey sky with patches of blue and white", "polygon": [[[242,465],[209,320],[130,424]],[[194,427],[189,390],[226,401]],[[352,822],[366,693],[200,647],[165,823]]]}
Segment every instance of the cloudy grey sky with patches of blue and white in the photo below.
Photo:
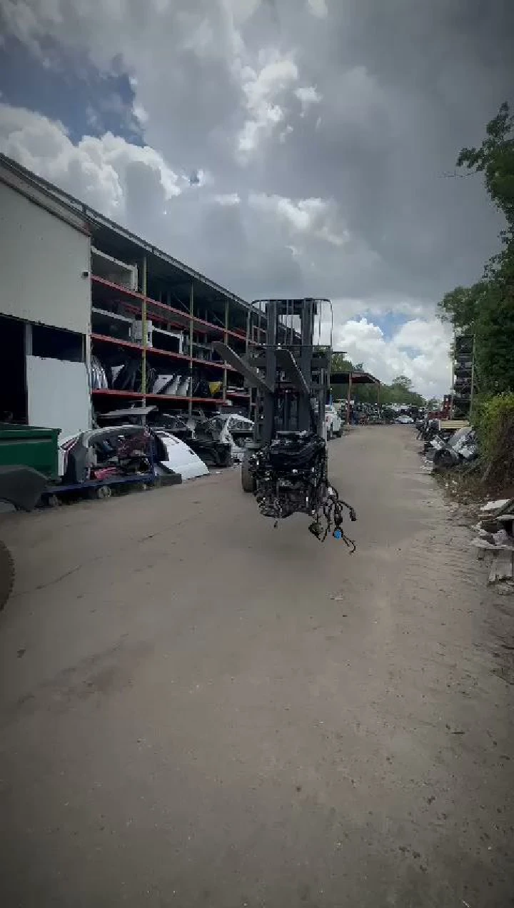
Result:
{"label": "cloudy grey sky with patches of blue and white", "polygon": [[448,390],[445,291],[499,217],[463,145],[512,0],[0,0],[0,150],[247,299],[329,296],[381,380]]}

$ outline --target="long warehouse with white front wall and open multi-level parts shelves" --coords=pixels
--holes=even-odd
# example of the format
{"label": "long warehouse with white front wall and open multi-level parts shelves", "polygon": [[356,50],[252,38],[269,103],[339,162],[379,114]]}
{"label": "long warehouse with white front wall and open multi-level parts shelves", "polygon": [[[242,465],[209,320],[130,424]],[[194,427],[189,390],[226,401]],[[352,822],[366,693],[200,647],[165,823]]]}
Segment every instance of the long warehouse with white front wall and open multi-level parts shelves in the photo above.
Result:
{"label": "long warehouse with white front wall and open multi-level parts shelves", "polygon": [[[0,155],[0,421],[247,408],[212,341],[243,352],[252,307]],[[255,329],[259,330],[259,329]]]}

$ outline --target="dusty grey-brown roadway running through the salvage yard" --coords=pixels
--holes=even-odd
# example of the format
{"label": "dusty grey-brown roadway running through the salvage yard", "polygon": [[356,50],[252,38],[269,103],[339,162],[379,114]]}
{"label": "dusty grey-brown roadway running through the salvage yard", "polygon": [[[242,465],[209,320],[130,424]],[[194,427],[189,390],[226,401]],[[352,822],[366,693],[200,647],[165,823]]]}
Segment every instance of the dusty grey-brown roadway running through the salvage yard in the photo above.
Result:
{"label": "dusty grey-brown roadway running through the salvage yard", "polygon": [[331,443],[351,557],[235,471],[2,519],[3,908],[514,905],[514,607],[415,448]]}

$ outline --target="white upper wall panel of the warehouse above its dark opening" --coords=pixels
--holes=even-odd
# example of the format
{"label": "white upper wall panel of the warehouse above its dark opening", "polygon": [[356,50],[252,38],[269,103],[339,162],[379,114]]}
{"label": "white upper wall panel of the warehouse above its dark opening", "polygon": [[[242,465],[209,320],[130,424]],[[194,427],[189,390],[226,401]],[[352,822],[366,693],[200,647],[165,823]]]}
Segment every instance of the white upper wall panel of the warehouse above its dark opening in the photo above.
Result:
{"label": "white upper wall panel of the warehouse above its dark opening", "polygon": [[35,198],[0,180],[0,314],[87,334],[90,238]]}

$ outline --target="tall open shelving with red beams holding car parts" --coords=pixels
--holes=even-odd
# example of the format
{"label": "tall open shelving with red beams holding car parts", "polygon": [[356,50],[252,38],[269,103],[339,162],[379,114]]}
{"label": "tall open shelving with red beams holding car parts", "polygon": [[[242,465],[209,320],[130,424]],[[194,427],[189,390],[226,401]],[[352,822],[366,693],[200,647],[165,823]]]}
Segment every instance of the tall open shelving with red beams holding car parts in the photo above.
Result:
{"label": "tall open shelving with red beams holding car parts", "polygon": [[96,212],[91,230],[91,361],[96,411],[129,400],[166,412],[247,412],[242,377],[213,352],[244,353],[252,307]]}

